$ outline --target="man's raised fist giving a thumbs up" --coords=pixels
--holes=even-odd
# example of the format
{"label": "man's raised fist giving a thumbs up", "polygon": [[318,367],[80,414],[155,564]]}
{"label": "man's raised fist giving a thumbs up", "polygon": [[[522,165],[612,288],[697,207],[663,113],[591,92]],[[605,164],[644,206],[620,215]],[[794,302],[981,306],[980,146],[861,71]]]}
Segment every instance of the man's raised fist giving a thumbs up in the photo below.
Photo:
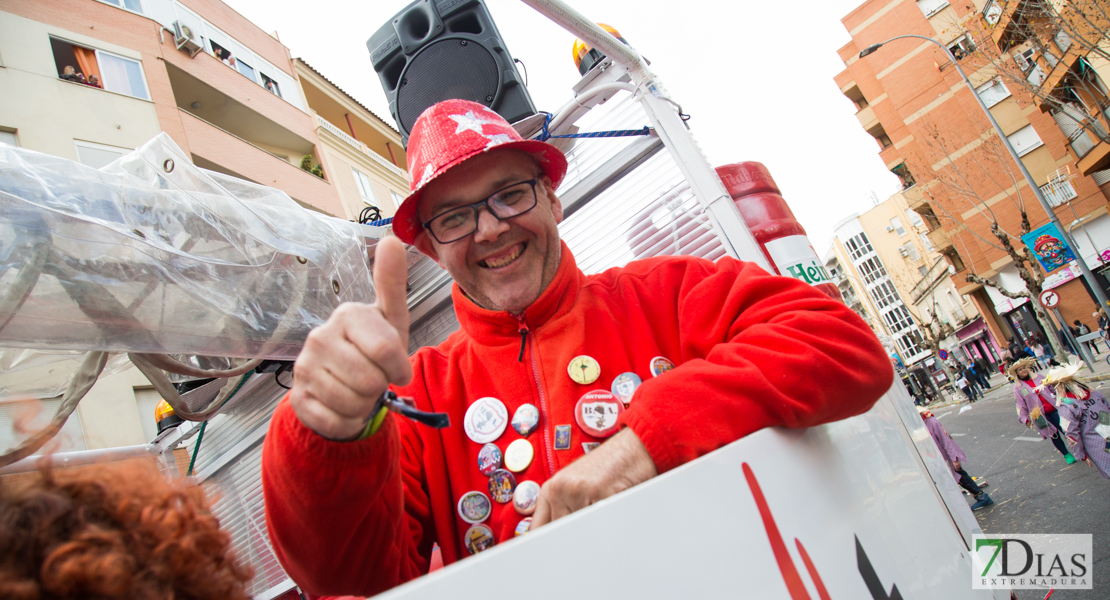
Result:
{"label": "man's raised fist giving a thumbs up", "polygon": [[359,436],[390,384],[413,378],[404,245],[377,243],[374,304],[344,303],[313,329],[294,365],[290,404],[301,423],[330,439]]}

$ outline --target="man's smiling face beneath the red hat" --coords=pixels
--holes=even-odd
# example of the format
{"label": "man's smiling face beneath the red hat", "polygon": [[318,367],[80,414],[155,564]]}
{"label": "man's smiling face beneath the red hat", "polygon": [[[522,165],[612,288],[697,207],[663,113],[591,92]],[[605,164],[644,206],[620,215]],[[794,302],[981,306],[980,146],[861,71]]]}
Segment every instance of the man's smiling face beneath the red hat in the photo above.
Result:
{"label": "man's smiling face beneath the red hat", "polygon": [[441,244],[424,232],[416,240],[421,252],[446,268],[483,308],[519,314],[555,278],[562,255],[563,205],[551,180],[539,173],[531,155],[494,149],[432,180],[421,193],[417,217],[424,223],[448,209],[481,202],[507,185],[539,180],[536,207],[527,213],[498,221],[480,207],[478,228],[471,235]]}

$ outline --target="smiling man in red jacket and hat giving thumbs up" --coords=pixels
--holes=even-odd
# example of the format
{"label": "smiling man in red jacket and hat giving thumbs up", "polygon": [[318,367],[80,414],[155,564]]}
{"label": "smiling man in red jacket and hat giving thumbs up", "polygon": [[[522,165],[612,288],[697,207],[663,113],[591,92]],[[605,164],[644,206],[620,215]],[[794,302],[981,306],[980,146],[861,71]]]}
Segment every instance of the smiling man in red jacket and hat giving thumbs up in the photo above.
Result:
{"label": "smiling man in red jacket and hat giving thumbs up", "polygon": [[[754,264],[583,274],[558,235],[566,159],[481,104],[425,111],[408,171],[393,231],[454,277],[461,329],[407,356],[386,238],[375,304],[310,334],[262,476],[275,552],[312,593],[377,593],[426,572],[436,542],[451,563],[764,427],[861,414],[892,382],[850,309]],[[372,414],[389,386],[451,426]]]}

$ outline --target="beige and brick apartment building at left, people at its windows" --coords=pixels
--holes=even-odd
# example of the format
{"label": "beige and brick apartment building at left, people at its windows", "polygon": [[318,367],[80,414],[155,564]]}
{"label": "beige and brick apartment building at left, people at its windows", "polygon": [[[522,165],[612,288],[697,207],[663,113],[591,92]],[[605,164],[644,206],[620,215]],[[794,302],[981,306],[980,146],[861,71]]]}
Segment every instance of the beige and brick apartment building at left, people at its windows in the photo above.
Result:
{"label": "beige and brick apartment building at left, people at its windows", "polygon": [[[400,134],[220,0],[0,0],[0,143],[100,167],[163,131],[340,218],[390,216],[408,189]],[[145,444],[159,400],[137,369],[104,376],[52,449]],[[60,398],[42,403],[38,425]]]}

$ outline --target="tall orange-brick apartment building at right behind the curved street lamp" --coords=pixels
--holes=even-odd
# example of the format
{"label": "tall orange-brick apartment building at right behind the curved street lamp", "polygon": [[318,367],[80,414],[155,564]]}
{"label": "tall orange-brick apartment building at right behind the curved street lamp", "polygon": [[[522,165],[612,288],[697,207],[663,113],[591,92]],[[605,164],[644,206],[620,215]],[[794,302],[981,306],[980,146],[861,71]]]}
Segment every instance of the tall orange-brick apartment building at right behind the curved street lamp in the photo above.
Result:
{"label": "tall orange-brick apartment building at right behind the curved street lamp", "polygon": [[[941,48],[910,38],[885,43],[862,59],[859,53],[905,34],[931,38],[948,48],[1060,221],[1080,221],[1073,230],[1076,255],[1100,271],[1101,255],[1110,248],[1110,192],[1104,190],[1110,172],[1102,171],[1108,165],[1092,162],[1090,152],[1080,156],[1074,132],[1061,128],[1051,111],[1041,110],[1029,85],[1008,79],[1009,64],[1033,60],[1021,54],[1031,42],[1016,43],[1013,38],[1015,43],[992,45],[1005,14],[992,6],[979,0],[958,6],[945,0],[865,2],[841,20],[852,40],[838,51],[846,69],[836,77],[855,105],[860,126],[875,138],[879,160],[902,182],[906,202],[924,222],[929,243],[951,267],[949,277],[957,296],[968,297],[981,315],[981,325],[971,324],[973,332],[962,333],[981,340],[986,354],[1015,335],[1042,330],[1028,298],[1010,298],[997,289],[1021,292],[1025,283],[1019,265],[992,230],[997,227],[1020,248],[1022,210],[1030,230],[1049,223],[1048,213]],[[1100,77],[1093,70],[1082,75]],[[939,265],[919,266],[926,267],[914,285],[919,292],[945,271]],[[1066,265],[1040,273],[1047,276],[1045,288],[1060,295],[1066,321],[1091,324],[1097,305],[1086,283],[1072,275],[1074,271],[1078,267]],[[987,283],[970,282],[968,275]]]}

